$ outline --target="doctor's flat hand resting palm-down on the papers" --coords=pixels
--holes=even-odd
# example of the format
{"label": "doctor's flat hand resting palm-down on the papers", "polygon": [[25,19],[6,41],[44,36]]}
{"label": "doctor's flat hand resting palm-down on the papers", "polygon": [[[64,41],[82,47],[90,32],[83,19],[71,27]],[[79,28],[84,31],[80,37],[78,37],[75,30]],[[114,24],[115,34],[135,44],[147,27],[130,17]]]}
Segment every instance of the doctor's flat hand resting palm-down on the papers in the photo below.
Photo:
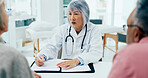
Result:
{"label": "doctor's flat hand resting palm-down on the papers", "polygon": [[61,62],[61,63],[57,64],[57,66],[61,67],[61,68],[66,67],[65,70],[68,70],[68,69],[76,67],[79,63],[80,63],[80,61],[77,58],[75,58],[72,60]]}

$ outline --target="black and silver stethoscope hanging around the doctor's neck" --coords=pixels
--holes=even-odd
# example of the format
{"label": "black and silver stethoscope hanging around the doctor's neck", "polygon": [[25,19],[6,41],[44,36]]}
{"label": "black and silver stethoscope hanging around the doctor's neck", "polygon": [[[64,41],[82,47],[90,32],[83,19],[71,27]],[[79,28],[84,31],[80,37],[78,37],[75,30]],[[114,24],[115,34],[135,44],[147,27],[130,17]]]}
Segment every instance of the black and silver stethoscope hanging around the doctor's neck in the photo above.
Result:
{"label": "black and silver stethoscope hanging around the doctor's neck", "polygon": [[[84,37],[83,37],[83,40],[82,40],[81,49],[83,49],[83,43],[84,43],[84,40],[85,40],[85,37],[86,37],[86,34],[87,34],[87,24],[85,25],[85,27],[86,27],[86,29],[85,29],[85,34],[84,34]],[[69,27],[69,34],[65,38],[65,43],[66,43],[65,44],[65,51],[66,51],[66,54],[68,56],[70,56],[70,55],[73,54],[73,46],[74,46],[74,38],[71,36],[70,32],[71,32],[71,26]],[[68,40],[68,38],[71,38],[72,39],[72,52],[71,52],[71,54],[68,54],[68,52],[67,52],[67,40]]]}

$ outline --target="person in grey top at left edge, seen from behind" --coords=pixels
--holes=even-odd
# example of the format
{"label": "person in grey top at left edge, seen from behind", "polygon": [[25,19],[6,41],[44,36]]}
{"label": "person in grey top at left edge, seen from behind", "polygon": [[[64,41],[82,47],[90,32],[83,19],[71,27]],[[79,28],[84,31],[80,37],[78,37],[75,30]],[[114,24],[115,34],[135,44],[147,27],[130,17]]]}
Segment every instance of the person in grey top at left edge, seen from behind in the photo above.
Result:
{"label": "person in grey top at left edge, seen from behind", "polygon": [[[8,15],[4,0],[0,0],[0,35],[8,31]],[[14,48],[4,45],[0,36],[0,78],[41,78],[32,72],[26,58]]]}

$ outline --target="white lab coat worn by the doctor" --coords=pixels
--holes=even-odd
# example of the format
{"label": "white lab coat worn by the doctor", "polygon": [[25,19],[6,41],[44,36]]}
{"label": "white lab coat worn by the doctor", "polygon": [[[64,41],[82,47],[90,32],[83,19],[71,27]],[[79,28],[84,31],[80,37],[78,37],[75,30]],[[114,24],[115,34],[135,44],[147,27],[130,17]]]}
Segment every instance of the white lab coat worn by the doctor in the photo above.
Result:
{"label": "white lab coat worn by the doctor", "polygon": [[87,24],[87,34],[84,40],[83,50],[81,50],[82,39],[85,34],[86,27],[83,27],[79,34],[76,33],[75,29],[71,27],[70,34],[74,38],[73,51],[71,51],[71,38],[67,41],[67,52],[65,38],[69,34],[69,24],[64,24],[60,26],[56,33],[53,35],[52,39],[47,43],[47,45],[41,50],[38,55],[46,55],[47,59],[57,58],[58,51],[62,48],[61,59],[74,59],[80,57],[83,59],[84,64],[95,63],[102,57],[102,38],[99,29],[94,24],[88,22]]}

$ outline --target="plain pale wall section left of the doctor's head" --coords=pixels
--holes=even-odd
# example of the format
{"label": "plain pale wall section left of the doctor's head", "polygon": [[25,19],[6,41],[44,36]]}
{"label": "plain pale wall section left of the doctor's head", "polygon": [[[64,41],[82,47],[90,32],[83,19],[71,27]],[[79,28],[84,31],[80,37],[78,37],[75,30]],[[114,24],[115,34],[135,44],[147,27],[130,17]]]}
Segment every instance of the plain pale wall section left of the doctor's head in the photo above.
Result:
{"label": "plain pale wall section left of the doctor's head", "polygon": [[[63,11],[61,11],[62,0],[41,0],[40,1],[40,12],[41,20],[47,21],[55,26],[61,24],[61,18]],[[61,21],[60,21],[61,20]]]}

